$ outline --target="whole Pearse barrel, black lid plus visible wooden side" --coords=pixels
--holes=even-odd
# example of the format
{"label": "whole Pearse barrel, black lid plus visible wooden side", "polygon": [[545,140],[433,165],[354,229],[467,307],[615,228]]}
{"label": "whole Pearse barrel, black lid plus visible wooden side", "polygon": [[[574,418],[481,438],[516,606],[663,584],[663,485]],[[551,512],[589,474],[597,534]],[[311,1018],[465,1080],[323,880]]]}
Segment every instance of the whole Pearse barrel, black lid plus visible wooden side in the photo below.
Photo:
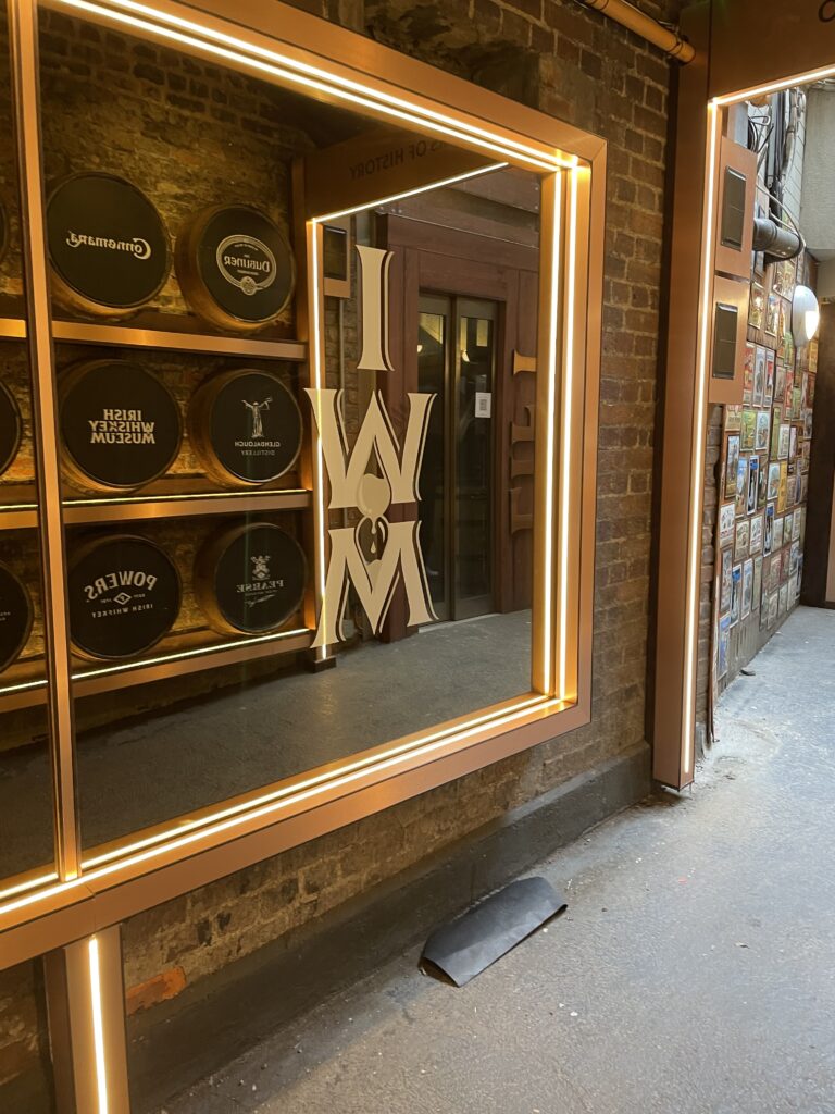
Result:
{"label": "whole Pearse barrel, black lid plus visible wooden side", "polygon": [[224,634],[266,634],[295,615],[307,563],[279,526],[255,522],[224,530],[200,550],[194,588],[209,623]]}

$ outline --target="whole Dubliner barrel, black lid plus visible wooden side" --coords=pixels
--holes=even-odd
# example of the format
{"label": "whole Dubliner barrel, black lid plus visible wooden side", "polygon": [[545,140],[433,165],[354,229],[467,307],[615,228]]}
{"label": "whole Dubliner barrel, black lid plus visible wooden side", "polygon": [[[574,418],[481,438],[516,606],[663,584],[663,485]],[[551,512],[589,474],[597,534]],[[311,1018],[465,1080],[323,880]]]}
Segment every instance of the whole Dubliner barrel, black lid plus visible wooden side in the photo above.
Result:
{"label": "whole Dubliner barrel, black lid plus visible wooden side", "polygon": [[177,237],[175,266],[194,312],[218,329],[242,333],[275,321],[296,282],[286,236],[252,205],[198,213]]}

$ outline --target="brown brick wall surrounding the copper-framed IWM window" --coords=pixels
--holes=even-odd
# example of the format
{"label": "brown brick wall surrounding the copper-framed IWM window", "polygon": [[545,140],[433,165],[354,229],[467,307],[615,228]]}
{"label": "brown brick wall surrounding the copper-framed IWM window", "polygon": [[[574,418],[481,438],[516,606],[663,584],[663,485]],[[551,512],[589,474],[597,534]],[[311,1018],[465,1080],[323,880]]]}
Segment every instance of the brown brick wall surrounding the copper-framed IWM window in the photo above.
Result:
{"label": "brown brick wall surrounding the copper-framed IWM window", "polygon": [[[639,0],[639,6],[668,20],[680,7],[678,0]],[[369,0],[364,16],[358,0],[298,7],[609,141],[593,720],[132,918],[125,928],[131,986],[153,987],[166,971],[167,987],[193,983],[644,740],[670,66],[659,51],[574,0]],[[134,74],[132,80],[155,85],[147,76]],[[128,66],[125,82],[130,81]],[[200,100],[196,92],[186,96]],[[0,975],[0,1000],[9,977]],[[153,998],[151,990],[143,1003]],[[28,1008],[26,995],[22,1001]],[[31,1025],[23,1032],[33,1052],[37,1032]],[[0,1079],[9,1055],[9,1043],[0,1037]]]}

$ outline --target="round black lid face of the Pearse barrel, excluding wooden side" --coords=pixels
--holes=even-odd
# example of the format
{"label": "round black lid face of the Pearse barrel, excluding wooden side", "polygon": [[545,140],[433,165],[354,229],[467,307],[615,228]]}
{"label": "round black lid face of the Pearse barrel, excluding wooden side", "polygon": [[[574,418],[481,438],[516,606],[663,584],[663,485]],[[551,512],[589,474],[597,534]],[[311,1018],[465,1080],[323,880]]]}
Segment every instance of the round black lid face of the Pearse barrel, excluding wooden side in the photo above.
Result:
{"label": "round black lid face of the Pearse barrel, excluding wooden side", "polygon": [[215,566],[218,609],[236,631],[273,631],[302,604],[304,553],[297,541],[271,522],[245,526],[235,532]]}

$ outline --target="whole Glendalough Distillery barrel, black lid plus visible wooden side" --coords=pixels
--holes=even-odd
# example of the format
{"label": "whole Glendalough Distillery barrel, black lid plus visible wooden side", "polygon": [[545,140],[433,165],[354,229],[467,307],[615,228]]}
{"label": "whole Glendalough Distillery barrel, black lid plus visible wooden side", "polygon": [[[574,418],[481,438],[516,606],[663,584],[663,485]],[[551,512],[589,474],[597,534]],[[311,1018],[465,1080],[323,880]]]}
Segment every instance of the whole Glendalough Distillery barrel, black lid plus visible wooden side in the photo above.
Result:
{"label": "whole Glendalough Distillery barrel, black lid plus visible wooden side", "polygon": [[191,444],[218,483],[268,483],[295,463],[302,412],[281,379],[240,369],[216,375],[195,393],[188,412]]}

